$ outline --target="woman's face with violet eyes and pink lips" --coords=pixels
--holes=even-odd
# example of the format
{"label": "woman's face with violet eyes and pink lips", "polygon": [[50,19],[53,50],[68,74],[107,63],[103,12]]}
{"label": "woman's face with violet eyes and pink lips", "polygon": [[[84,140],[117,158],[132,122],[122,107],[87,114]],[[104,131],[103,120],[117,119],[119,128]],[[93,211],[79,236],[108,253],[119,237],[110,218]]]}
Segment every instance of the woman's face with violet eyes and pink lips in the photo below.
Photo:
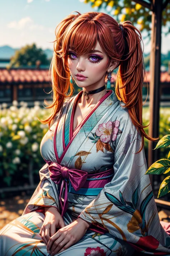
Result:
{"label": "woman's face with violet eyes and pink lips", "polygon": [[[88,87],[88,90],[94,90],[105,84],[105,73],[107,71],[107,54],[97,43],[93,53],[86,53],[84,56],[77,56],[76,51],[69,48],[68,65],[70,73],[79,87]],[[108,68],[113,70],[112,67]],[[86,78],[80,81],[76,74],[82,74]]]}

